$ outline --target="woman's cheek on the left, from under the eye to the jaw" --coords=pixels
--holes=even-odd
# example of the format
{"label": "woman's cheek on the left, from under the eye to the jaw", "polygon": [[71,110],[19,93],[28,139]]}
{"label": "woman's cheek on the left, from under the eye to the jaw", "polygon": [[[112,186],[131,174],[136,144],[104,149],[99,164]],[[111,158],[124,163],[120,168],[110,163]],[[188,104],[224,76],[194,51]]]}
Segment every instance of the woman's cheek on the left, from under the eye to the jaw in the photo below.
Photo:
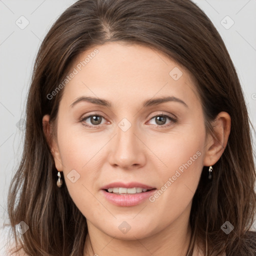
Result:
{"label": "woman's cheek on the left, from under the eye to the jaw", "polygon": [[[59,125],[58,147],[63,165],[63,175],[68,192],[77,208],[85,215],[88,205],[92,203],[91,192],[99,177],[100,149],[106,141],[91,134],[77,132],[71,126]],[[101,157],[102,158],[102,157]],[[98,205],[97,205],[98,204]],[[93,200],[93,207],[100,209],[97,200]],[[102,206],[102,205],[101,205]]]}

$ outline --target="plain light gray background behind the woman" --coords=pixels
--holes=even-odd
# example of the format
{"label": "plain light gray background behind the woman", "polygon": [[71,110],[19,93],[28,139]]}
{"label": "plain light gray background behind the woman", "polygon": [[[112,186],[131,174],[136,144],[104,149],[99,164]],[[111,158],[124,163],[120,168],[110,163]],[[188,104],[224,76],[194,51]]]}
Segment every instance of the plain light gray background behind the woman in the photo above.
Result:
{"label": "plain light gray background behind the woman", "polygon": [[[7,191],[22,152],[23,129],[22,125],[17,127],[17,122],[24,117],[33,61],[52,23],[73,2],[0,0],[0,227],[8,222]],[[256,128],[256,0],[194,2],[208,15],[226,44]],[[25,19],[20,18],[22,15],[29,21],[24,29],[15,23],[25,24]],[[226,28],[232,20],[226,18],[227,15],[234,22],[229,29]],[[253,139],[255,141],[254,133]],[[256,228],[256,223],[254,226]],[[1,255],[5,244],[3,234],[6,231],[0,229]]]}

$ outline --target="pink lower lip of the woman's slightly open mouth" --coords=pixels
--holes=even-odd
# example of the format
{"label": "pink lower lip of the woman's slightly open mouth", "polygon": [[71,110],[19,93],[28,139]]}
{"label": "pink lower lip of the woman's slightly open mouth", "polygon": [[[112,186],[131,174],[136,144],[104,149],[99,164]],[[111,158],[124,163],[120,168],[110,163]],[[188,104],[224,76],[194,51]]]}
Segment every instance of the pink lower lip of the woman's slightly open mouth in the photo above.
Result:
{"label": "pink lower lip of the woman's slightly open mouth", "polygon": [[151,189],[146,192],[135,193],[135,194],[114,194],[106,192],[101,189],[105,198],[111,203],[118,206],[134,206],[137,205],[144,200],[146,200],[151,194],[155,192],[156,189]]}

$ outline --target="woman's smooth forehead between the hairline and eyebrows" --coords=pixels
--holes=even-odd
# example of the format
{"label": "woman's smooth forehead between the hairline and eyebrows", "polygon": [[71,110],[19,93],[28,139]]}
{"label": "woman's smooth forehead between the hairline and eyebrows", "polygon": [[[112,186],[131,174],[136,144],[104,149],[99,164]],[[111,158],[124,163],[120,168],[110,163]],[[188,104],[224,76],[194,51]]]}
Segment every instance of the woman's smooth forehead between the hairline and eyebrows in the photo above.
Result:
{"label": "woman's smooth forehead between the hairline and eyebrows", "polygon": [[108,42],[87,49],[72,62],[75,73],[64,88],[64,99],[81,95],[111,101],[142,101],[157,96],[196,100],[193,77],[161,52],[139,44]]}

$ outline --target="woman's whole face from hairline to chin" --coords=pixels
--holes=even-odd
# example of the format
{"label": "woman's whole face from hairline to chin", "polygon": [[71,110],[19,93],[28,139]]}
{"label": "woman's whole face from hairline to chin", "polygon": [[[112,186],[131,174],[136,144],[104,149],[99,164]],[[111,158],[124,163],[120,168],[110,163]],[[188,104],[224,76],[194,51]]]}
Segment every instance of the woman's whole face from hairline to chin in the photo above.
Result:
{"label": "woman's whole face from hairline to chin", "polygon": [[187,225],[207,146],[187,71],[149,47],[109,42],[70,73],[54,157],[89,231],[139,239]]}

